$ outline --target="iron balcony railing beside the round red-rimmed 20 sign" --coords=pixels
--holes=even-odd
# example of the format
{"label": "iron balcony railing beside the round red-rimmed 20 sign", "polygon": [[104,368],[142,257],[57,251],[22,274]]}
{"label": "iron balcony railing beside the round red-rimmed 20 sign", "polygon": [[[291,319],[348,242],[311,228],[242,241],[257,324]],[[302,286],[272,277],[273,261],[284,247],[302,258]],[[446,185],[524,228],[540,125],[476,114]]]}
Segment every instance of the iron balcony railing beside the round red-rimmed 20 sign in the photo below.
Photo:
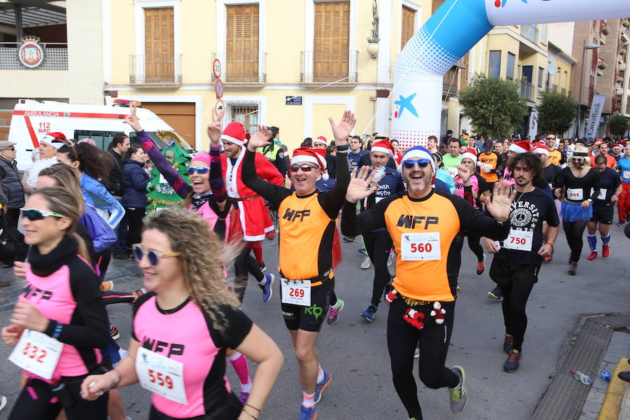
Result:
{"label": "iron balcony railing beside the round red-rimmed 20 sign", "polygon": [[[225,83],[267,82],[267,52],[216,52],[211,63],[215,58],[221,62],[221,80]],[[214,73],[210,73],[214,83]]]}

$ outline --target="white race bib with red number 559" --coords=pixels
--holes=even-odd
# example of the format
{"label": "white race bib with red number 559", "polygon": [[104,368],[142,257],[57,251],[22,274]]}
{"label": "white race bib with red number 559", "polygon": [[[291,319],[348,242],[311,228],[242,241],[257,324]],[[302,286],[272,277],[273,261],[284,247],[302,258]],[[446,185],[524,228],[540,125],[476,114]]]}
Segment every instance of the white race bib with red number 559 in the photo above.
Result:
{"label": "white race bib with red number 559", "polygon": [[136,374],[140,385],[168,400],[188,405],[183,383],[183,363],[144,347],[138,348]]}

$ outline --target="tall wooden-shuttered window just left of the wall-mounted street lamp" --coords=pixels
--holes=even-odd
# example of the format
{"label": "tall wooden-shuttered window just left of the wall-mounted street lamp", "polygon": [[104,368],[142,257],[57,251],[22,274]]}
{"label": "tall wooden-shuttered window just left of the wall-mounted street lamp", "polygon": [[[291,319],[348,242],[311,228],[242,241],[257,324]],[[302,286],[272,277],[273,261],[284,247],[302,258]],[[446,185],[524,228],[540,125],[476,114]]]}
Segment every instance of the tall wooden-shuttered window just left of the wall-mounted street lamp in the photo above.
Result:
{"label": "tall wooden-shuttered window just left of the wall-mounted street lamp", "polygon": [[332,82],[348,76],[350,2],[315,3],[313,81]]}

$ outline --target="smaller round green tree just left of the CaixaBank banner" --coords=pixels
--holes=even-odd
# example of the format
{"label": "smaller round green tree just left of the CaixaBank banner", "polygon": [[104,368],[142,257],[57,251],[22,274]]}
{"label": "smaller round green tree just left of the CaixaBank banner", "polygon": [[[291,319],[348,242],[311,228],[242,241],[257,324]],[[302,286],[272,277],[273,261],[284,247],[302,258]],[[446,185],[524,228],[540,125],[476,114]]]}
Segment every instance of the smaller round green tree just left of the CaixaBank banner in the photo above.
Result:
{"label": "smaller round green tree just left of the CaixaBank banner", "polygon": [[560,92],[542,92],[542,101],[538,109],[538,131],[554,132],[562,137],[575,119],[577,103],[572,97]]}

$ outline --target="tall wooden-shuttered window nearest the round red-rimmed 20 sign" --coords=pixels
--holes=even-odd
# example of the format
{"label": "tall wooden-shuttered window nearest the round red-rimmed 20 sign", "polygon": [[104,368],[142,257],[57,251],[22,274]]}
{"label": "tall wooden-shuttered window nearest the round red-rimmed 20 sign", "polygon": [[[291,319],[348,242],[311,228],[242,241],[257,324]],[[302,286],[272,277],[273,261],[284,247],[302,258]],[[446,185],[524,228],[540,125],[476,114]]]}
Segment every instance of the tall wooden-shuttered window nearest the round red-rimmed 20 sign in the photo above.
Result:
{"label": "tall wooden-shuttered window nearest the round red-rimmed 20 sign", "polygon": [[258,3],[227,6],[226,81],[258,82]]}

